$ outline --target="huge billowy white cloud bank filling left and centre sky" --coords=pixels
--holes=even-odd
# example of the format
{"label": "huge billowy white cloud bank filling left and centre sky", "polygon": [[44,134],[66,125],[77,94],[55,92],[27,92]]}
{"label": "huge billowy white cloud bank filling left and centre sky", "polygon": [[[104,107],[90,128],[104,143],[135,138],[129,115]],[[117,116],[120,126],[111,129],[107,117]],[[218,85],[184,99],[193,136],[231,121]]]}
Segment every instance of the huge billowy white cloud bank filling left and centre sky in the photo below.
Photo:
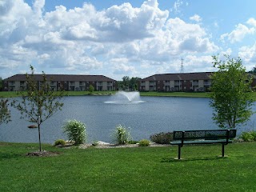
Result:
{"label": "huge billowy white cloud bank filling left and centre sky", "polygon": [[[176,10],[186,5],[180,0],[175,3]],[[139,70],[154,73],[155,67],[171,70],[170,62],[180,54],[219,49],[202,26],[170,18],[157,0],[147,0],[139,7],[126,2],[105,10],[84,3],[70,10],[60,5],[46,12],[44,5],[45,0],[35,0],[33,6],[22,0],[1,1],[0,70],[15,69],[12,71],[17,73],[33,64],[38,70],[50,68],[46,73],[98,70],[104,74],[102,69],[113,75],[139,74]],[[191,19],[201,20],[196,14]],[[248,22],[254,24],[253,19]]]}

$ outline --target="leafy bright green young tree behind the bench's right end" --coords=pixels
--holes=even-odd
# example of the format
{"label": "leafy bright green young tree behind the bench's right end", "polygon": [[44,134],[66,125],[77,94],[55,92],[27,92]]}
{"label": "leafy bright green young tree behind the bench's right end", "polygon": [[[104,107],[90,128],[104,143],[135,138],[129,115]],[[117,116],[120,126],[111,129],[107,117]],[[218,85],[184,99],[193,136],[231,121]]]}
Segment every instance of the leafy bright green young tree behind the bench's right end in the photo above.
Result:
{"label": "leafy bright green young tree behind the bench's right end", "polygon": [[235,128],[253,114],[252,79],[246,74],[241,58],[225,57],[226,61],[221,61],[218,56],[213,56],[214,67],[218,68],[218,72],[211,76],[210,106],[214,109],[213,119],[219,127]]}

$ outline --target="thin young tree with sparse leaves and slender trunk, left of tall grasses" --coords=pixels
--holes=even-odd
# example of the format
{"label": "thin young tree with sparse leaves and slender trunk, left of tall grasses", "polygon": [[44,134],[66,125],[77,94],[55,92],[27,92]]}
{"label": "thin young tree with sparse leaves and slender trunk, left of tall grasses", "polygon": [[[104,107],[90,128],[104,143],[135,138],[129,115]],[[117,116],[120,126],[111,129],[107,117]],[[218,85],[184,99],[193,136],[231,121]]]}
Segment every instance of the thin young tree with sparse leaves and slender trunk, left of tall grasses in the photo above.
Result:
{"label": "thin young tree with sparse leaves and slender trunk, left of tall grasses", "polygon": [[46,74],[42,72],[42,81],[38,83],[34,77],[34,68],[30,66],[31,74],[26,74],[26,91],[22,92],[22,99],[15,99],[12,106],[21,112],[21,118],[35,123],[38,127],[39,150],[41,145],[41,124],[58,110],[62,110],[60,102],[63,91],[54,92],[50,89]]}

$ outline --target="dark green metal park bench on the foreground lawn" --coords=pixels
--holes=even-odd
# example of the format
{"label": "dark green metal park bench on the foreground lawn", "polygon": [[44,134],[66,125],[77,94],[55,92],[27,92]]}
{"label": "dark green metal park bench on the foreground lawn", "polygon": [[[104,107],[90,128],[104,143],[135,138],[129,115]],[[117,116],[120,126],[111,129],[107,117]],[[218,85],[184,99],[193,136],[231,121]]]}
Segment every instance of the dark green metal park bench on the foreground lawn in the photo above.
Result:
{"label": "dark green metal park bench on the foreground lawn", "polygon": [[178,159],[181,159],[181,148],[191,144],[222,144],[222,157],[224,157],[224,146],[235,138],[236,130],[183,130],[174,131],[171,145],[178,146]]}

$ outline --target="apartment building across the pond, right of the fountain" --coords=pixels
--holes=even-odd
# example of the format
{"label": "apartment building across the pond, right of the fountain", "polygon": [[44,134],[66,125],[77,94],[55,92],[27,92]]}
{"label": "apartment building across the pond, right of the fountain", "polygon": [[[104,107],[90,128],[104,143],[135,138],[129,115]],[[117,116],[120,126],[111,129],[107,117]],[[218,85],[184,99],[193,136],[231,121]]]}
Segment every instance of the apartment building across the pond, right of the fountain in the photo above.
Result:
{"label": "apartment building across the pond, right of the fountain", "polygon": [[[142,78],[139,89],[141,91],[207,91],[210,88],[212,72],[154,74]],[[253,76],[252,87],[256,86]]]}

